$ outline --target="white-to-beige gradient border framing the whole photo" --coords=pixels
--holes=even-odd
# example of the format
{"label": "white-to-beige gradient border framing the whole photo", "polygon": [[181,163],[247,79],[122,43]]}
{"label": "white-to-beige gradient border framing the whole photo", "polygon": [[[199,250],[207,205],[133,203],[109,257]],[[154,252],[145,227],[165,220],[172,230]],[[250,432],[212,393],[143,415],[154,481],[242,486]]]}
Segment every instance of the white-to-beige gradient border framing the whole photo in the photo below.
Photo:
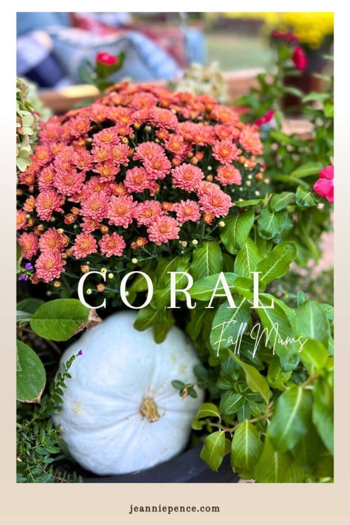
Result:
{"label": "white-to-beige gradient border framing the whole photo", "polygon": [[[149,10],[164,10],[164,5],[148,2]],[[247,2],[243,4],[247,9]],[[14,77],[15,77],[15,9],[41,10],[61,8],[66,10],[94,10],[96,3],[68,2],[58,4],[47,2],[19,1],[7,8],[2,18],[1,68],[1,156],[2,159],[2,302],[0,313],[2,323],[2,360],[0,379],[2,389],[2,433],[1,433],[1,496],[0,514],[4,523],[44,523],[52,525],[66,522],[109,524],[109,523],[348,523],[348,481],[349,481],[349,425],[348,425],[348,381],[350,353],[348,350],[345,285],[347,282],[349,251],[348,218],[345,199],[349,195],[350,170],[346,169],[349,158],[349,95],[348,80],[348,35],[349,16],[342,2],[293,1],[283,7],[294,10],[312,11],[336,10],[336,479],[332,485],[16,485],[15,484],[15,367],[12,351],[15,339],[15,279],[14,279]],[[202,0],[190,4],[191,10],[208,10],[212,2]],[[103,7],[113,10],[114,2]],[[143,2],[132,4],[135,10],[144,10]],[[188,9],[188,3],[177,1],[174,10]],[[215,4],[217,10],[232,10],[231,2]],[[266,10],[279,10],[280,2],[266,1]],[[4,10],[5,6],[2,7]],[[250,1],[250,10],[259,11],[261,1]],[[4,15],[4,12],[3,12]],[[5,65],[4,65],[5,62]],[[10,226],[9,226],[10,224]],[[343,293],[342,293],[343,292]],[[5,338],[4,338],[5,335]],[[220,505],[220,514],[133,514],[128,516],[129,505]],[[332,519],[333,518],[333,519]]]}

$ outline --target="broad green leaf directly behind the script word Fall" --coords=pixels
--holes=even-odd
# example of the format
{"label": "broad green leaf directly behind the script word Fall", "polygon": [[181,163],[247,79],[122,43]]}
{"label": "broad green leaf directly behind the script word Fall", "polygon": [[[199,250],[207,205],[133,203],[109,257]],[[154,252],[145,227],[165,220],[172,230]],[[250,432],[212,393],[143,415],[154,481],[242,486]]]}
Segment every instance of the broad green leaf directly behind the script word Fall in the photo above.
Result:
{"label": "broad green leaf directly behind the script word Fall", "polygon": [[250,308],[247,299],[235,300],[237,308],[229,308],[228,301],[220,304],[216,311],[210,331],[210,345],[219,356],[220,350],[235,343],[239,333],[245,332],[245,324],[250,318]]}

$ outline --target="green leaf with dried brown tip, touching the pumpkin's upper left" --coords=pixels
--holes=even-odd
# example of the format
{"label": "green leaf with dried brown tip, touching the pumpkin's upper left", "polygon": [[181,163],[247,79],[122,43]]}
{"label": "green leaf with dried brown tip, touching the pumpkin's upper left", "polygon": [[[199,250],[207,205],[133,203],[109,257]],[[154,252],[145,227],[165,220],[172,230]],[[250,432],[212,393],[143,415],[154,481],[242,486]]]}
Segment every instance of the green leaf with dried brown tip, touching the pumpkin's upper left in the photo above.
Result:
{"label": "green leaf with dried brown tip, touching the pumpkin's upper left", "polygon": [[101,319],[95,310],[83,306],[79,299],[55,299],[42,304],[30,320],[30,328],[40,337],[67,341],[84,328],[96,326]]}

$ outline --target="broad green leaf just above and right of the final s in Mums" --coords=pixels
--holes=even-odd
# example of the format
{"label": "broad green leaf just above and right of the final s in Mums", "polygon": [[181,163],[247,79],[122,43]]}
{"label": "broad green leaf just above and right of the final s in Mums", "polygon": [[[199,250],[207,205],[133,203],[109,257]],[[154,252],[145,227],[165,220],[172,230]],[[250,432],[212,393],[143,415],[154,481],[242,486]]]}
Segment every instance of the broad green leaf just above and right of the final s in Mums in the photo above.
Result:
{"label": "broad green leaf just above and right of the final s in Mums", "polygon": [[325,311],[317,301],[307,300],[298,309],[294,333],[296,336],[302,335],[327,345],[331,335],[330,325]]}

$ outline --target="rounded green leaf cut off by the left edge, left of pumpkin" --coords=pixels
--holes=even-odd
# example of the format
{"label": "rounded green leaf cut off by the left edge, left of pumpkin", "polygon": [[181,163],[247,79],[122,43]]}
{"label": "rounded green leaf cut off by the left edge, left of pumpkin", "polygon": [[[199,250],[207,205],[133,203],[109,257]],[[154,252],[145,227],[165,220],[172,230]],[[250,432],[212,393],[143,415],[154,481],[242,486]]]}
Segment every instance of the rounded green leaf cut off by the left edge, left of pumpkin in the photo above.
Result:
{"label": "rounded green leaf cut off by the left edge, left of pumpkin", "polygon": [[23,403],[40,403],[46,373],[37,354],[22,341],[17,340],[17,400]]}

